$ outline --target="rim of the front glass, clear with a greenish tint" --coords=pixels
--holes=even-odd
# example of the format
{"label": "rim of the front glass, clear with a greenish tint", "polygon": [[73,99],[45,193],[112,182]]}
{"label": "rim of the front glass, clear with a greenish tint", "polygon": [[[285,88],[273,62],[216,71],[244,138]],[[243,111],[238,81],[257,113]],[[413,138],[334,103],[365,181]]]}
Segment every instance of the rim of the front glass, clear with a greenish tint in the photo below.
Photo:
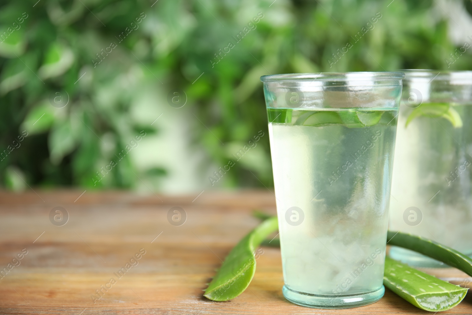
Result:
{"label": "rim of the front glass, clear with a greenish tint", "polygon": [[[471,71],[472,72],[472,71]],[[304,82],[304,81],[382,81],[401,80],[403,72],[318,72],[318,73],[288,73],[265,75],[261,77],[264,83],[269,82]],[[400,82],[397,85],[401,85]]]}

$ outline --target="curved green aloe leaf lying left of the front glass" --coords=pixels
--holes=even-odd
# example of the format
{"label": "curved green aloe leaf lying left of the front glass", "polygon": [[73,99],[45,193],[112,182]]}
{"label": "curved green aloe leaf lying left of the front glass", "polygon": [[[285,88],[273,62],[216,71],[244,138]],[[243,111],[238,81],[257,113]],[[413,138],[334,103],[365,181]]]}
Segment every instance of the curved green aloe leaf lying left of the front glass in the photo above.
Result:
{"label": "curved green aloe leaf lying left of the front glass", "polygon": [[243,293],[256,271],[254,250],[277,229],[277,217],[271,217],[247,234],[226,256],[203,295],[213,301],[228,301]]}

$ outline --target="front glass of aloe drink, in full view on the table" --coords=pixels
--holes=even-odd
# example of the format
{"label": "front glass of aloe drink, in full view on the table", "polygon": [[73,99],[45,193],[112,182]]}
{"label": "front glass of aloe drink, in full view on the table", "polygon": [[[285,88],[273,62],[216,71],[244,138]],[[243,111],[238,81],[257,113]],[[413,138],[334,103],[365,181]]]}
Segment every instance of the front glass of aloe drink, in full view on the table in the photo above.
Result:
{"label": "front glass of aloe drink, in full view on the table", "polygon": [[347,308],[382,285],[403,73],[263,76],[289,301]]}

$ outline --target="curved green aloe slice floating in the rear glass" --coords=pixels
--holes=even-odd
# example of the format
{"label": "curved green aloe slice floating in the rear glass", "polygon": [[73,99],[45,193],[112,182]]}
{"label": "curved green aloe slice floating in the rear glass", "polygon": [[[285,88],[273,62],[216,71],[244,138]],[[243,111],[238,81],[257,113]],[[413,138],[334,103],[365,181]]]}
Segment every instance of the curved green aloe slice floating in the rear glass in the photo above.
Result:
{"label": "curved green aloe slice floating in the rear glass", "polygon": [[454,109],[450,103],[422,103],[420,106],[413,109],[406,119],[405,128],[417,117],[441,117],[449,120],[454,128],[462,127],[462,119],[459,113]]}

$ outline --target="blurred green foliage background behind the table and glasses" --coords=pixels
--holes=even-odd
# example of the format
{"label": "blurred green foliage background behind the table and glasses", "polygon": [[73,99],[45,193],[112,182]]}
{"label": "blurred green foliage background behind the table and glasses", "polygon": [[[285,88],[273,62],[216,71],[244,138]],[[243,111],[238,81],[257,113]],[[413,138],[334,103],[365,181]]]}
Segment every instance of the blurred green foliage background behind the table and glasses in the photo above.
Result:
{"label": "blurred green foliage background behind the table and glasses", "polygon": [[3,0],[1,186],[270,188],[261,75],[470,70],[471,13],[470,0]]}

